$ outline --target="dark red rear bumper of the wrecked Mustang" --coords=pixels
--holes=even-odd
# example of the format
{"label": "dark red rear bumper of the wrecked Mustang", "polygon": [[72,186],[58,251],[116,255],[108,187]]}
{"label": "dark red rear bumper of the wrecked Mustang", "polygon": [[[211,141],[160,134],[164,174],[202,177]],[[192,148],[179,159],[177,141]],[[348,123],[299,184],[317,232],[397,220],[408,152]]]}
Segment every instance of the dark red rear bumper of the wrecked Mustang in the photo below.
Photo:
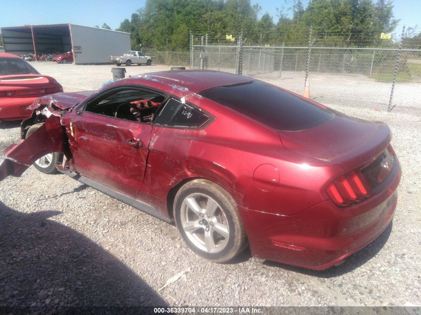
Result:
{"label": "dark red rear bumper of the wrecked Mustang", "polygon": [[286,216],[239,207],[253,256],[314,270],[335,265],[372,242],[392,221],[399,162],[391,176],[381,193],[346,208],[326,200]]}

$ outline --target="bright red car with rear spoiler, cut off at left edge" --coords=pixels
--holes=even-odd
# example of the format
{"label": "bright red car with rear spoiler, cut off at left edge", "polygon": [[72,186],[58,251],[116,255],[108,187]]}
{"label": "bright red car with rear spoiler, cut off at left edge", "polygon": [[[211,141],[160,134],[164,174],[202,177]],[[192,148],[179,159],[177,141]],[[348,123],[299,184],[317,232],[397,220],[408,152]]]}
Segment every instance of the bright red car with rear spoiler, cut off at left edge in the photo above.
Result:
{"label": "bright red car with rear spoiler, cut off at left edge", "polygon": [[34,100],[57,92],[63,88],[56,80],[40,75],[16,55],[0,53],[0,120],[28,118]]}

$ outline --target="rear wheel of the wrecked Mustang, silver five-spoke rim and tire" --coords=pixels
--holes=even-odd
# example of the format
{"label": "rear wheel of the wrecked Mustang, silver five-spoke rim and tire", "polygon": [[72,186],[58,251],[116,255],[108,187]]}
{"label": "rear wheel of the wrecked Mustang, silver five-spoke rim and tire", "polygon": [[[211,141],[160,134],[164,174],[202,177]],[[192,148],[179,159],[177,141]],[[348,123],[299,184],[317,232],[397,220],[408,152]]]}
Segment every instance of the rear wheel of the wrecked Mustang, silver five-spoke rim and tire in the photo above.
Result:
{"label": "rear wheel of the wrecked Mustang, silver five-spoke rim and tire", "polygon": [[208,180],[193,180],[177,192],[175,224],[190,249],[217,263],[247,246],[246,232],[231,195]]}

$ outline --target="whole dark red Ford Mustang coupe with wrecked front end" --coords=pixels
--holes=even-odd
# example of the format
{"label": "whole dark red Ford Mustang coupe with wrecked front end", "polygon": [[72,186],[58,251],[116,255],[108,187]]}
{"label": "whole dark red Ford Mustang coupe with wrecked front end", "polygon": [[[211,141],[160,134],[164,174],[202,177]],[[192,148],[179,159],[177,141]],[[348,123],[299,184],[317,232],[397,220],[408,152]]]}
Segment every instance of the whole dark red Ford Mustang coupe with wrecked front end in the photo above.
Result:
{"label": "whole dark red Ford Mustang coupe with wrecked front end", "polygon": [[175,221],[215,262],[249,244],[262,259],[326,269],[373,241],[396,208],[401,168],[386,124],[251,78],[150,73],[32,109],[0,179],[34,161],[57,169]]}

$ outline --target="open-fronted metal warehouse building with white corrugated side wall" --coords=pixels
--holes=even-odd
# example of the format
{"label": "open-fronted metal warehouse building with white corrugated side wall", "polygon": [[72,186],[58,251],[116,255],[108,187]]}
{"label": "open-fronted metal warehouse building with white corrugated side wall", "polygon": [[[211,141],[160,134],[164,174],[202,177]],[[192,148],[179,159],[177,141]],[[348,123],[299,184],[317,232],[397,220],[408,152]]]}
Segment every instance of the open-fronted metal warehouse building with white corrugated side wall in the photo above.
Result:
{"label": "open-fronted metal warehouse building with white corrugated side wall", "polygon": [[111,55],[131,50],[130,33],[76,24],[2,27],[5,52],[36,56],[73,51],[75,64],[109,63]]}

